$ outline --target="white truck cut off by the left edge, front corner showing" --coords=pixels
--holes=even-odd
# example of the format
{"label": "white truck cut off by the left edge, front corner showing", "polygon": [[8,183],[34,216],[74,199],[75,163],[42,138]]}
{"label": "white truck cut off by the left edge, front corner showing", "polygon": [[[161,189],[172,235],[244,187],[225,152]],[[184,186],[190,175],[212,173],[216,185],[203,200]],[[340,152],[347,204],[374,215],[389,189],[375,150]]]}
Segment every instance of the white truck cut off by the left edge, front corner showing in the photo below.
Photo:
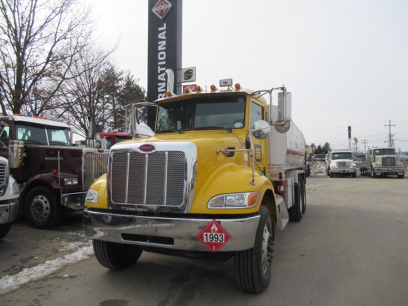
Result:
{"label": "white truck cut off by the left edge, front corner showing", "polygon": [[0,157],[0,239],[6,237],[17,218],[20,185],[9,174],[9,162]]}

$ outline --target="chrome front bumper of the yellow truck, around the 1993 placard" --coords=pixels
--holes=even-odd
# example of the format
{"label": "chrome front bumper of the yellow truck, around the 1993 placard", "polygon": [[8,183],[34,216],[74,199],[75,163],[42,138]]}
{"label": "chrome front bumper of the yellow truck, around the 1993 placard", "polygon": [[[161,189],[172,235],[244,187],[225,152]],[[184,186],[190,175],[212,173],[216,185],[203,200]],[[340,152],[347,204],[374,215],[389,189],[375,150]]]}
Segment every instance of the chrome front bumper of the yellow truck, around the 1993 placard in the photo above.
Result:
{"label": "chrome front bumper of the yellow truck, around the 1993 placard", "polygon": [[[217,219],[232,236],[221,252],[252,248],[260,216]],[[85,234],[111,242],[136,244],[174,250],[210,251],[198,238],[198,233],[212,219],[168,218],[84,210]]]}

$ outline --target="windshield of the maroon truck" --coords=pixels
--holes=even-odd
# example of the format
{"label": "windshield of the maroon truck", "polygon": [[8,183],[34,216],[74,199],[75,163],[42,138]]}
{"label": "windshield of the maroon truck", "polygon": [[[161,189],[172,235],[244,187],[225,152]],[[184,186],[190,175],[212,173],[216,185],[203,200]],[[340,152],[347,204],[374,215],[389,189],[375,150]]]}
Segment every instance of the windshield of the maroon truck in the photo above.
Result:
{"label": "windshield of the maroon truck", "polygon": [[[66,129],[47,126],[16,124],[16,139],[45,145],[71,145]],[[47,141],[48,140],[48,141]]]}

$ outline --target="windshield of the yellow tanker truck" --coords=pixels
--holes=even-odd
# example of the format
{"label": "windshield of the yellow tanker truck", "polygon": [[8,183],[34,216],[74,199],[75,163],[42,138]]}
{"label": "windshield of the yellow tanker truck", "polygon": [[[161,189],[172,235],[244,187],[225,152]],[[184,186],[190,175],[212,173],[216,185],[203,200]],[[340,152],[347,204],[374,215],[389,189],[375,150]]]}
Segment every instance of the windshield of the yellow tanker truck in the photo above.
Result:
{"label": "windshield of the yellow tanker truck", "polygon": [[245,96],[194,98],[162,104],[156,133],[189,130],[242,129]]}

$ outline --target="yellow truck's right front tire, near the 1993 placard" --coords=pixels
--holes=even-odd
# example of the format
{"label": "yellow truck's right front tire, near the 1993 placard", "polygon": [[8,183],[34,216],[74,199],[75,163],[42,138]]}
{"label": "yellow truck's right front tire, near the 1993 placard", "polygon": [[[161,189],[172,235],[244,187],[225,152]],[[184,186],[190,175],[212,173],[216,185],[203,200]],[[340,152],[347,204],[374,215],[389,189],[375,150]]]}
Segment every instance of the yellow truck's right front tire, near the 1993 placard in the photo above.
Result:
{"label": "yellow truck's right front tire, near the 1993 placard", "polygon": [[234,266],[238,288],[248,293],[261,293],[271,278],[274,224],[266,206],[261,206],[260,221],[254,247],[235,253]]}

